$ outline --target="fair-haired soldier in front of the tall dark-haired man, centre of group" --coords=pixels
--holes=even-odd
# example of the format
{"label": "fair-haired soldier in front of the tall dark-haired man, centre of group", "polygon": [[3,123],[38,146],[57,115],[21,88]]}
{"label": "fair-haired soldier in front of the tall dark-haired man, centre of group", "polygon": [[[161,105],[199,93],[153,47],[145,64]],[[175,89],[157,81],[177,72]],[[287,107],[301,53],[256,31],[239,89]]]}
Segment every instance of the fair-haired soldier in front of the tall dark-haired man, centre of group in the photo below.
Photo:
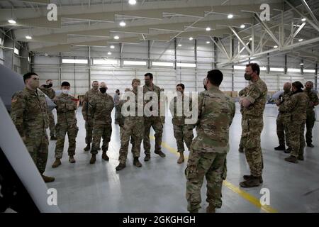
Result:
{"label": "fair-haired soldier in front of the tall dark-haired man, centre of group", "polygon": [[[138,116],[138,106],[143,108],[143,102],[138,102],[138,87],[140,87],[140,79],[133,79],[132,81],[133,94],[135,95],[135,112],[133,116],[125,116],[123,121],[123,126],[121,126],[121,148],[118,161],[120,162],[116,167],[116,170],[123,170],[125,168],[126,158],[128,157],[128,143],[133,140],[132,143],[132,153],[133,153],[133,165],[136,167],[142,167],[142,164],[138,160],[140,157],[140,144],[142,143],[143,131],[144,131],[144,117]],[[130,102],[130,100],[125,101],[125,103]],[[123,103],[121,104],[121,108]],[[121,111],[121,110],[120,110]],[[120,114],[122,111],[120,112]],[[121,114],[121,118],[123,114]],[[121,120],[120,120],[121,121]],[[121,123],[122,125],[122,123]]]}

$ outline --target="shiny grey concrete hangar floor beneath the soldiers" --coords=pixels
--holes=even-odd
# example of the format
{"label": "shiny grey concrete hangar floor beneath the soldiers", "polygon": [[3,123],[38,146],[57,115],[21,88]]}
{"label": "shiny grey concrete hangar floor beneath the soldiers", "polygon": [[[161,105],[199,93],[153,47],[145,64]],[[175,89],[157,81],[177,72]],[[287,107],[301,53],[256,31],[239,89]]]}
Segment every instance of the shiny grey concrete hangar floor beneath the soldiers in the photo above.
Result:
{"label": "shiny grey concrete hangar floor beneath the soldiers", "polygon": [[[316,110],[317,119],[318,109]],[[264,155],[264,184],[252,189],[242,189],[239,182],[242,175],[249,174],[245,155],[238,153],[240,140],[241,115],[237,106],[233,125],[230,130],[230,153],[228,153],[228,177],[223,187],[223,206],[218,212],[319,212],[319,141],[318,122],[313,130],[315,148],[305,149],[305,160],[298,164],[285,162],[287,155],[275,151],[278,145],[276,136],[275,105],[267,104],[264,112],[262,131],[262,150]],[[50,141],[49,159],[45,174],[56,177],[47,187],[57,189],[58,206],[63,212],[187,212],[185,199],[186,162],[177,164],[176,143],[173,136],[171,117],[164,125],[162,158],[153,153],[152,158],[142,167],[133,166],[133,158],[128,155],[126,168],[116,172],[118,150],[120,148],[119,127],[113,125],[109,144],[109,162],[101,160],[101,152],[95,165],[89,164],[89,152],[84,152],[85,128],[81,109],[77,111],[79,134],[75,164],[70,164],[67,156],[67,140],[62,165],[53,169],[55,141]],[[153,132],[151,133],[153,135]],[[186,152],[188,155],[188,151]],[[269,189],[270,204],[258,204],[262,196],[260,190]],[[206,184],[202,188],[202,209],[207,203]]]}

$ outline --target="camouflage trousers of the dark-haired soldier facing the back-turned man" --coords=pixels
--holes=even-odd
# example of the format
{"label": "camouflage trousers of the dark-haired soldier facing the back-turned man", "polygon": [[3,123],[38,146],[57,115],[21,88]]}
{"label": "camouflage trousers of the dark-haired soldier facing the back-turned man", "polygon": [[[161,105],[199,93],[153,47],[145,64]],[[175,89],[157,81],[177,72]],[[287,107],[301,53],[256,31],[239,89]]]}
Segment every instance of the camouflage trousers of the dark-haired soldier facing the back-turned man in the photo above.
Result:
{"label": "camouflage trousers of the dark-haired soldier facing the back-turned man", "polygon": [[184,126],[176,126],[173,124],[174,129],[174,137],[177,142],[177,152],[184,152],[184,141],[189,150],[191,150],[191,142],[193,141],[194,134],[193,128],[184,125]]}

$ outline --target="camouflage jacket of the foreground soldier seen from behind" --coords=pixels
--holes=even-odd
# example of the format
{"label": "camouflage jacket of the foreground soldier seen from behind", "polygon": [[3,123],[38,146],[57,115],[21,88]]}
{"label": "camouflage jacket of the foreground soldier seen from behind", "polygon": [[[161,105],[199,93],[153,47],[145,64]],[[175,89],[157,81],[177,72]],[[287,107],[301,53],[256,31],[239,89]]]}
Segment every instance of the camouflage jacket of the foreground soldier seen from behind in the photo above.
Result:
{"label": "camouflage jacket of the foreground soldier seen from behind", "polygon": [[197,137],[194,150],[228,153],[229,128],[235,116],[235,101],[217,87],[198,94]]}

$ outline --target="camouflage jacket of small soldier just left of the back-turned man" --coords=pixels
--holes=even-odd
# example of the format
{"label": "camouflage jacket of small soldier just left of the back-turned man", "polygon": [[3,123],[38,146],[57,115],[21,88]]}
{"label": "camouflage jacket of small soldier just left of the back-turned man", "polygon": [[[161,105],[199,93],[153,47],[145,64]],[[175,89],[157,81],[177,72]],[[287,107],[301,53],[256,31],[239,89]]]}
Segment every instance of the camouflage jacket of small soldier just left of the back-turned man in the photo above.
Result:
{"label": "camouflage jacket of small soldier just left of the back-turned man", "polygon": [[[177,99],[178,97],[175,96],[174,99],[172,99],[172,101],[169,104],[169,111],[171,111],[172,114],[172,123],[175,126],[184,126],[185,124],[185,114],[184,114],[184,101],[188,101],[189,102],[189,111],[191,111],[191,98],[189,96],[182,96],[179,97],[179,99]],[[181,102],[181,105],[177,105],[177,101]],[[181,116],[177,116],[178,111],[177,111],[177,107],[181,106]]]}

